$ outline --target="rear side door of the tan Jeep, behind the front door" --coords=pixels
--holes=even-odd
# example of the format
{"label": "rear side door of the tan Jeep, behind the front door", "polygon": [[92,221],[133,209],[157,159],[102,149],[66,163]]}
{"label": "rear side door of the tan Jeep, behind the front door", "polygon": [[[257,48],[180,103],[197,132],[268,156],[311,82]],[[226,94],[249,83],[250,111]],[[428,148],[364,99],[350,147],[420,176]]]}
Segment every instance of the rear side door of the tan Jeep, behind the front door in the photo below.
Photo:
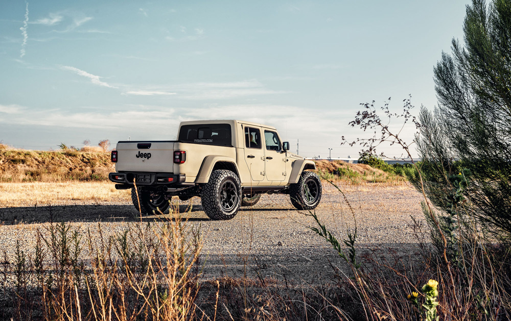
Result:
{"label": "rear side door of the tan Jeep, behind the front door", "polygon": [[261,142],[261,130],[259,128],[244,126],[245,137],[245,161],[250,170],[252,181],[259,182],[264,179],[264,149]]}

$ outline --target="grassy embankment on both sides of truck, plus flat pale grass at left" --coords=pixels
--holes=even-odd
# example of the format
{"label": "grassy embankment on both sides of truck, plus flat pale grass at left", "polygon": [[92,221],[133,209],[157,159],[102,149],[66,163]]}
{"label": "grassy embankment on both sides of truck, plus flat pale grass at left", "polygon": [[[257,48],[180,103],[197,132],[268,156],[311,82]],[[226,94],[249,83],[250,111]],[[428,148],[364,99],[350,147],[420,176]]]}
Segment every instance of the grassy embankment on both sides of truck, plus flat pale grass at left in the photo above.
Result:
{"label": "grassy embankment on both sides of truck, plus flat pale grass at left", "polygon": [[[366,164],[316,161],[323,179],[345,185],[400,186],[397,172]],[[0,144],[0,207],[65,205],[73,201],[126,202],[129,193],[108,181],[114,170],[110,154],[101,147],[81,151],[31,151]]]}

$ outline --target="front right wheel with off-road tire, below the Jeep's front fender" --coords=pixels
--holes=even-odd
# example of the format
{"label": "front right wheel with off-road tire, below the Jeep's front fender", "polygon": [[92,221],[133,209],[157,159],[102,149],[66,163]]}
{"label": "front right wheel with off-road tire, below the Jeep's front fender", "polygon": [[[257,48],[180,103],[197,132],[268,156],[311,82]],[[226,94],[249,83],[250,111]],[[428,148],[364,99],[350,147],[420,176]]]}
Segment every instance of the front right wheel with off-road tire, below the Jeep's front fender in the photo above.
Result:
{"label": "front right wheel with off-road tire, below the Jeep's front fender", "polygon": [[321,201],[322,186],[319,176],[312,171],[301,172],[298,183],[289,186],[291,204],[299,210],[313,210]]}

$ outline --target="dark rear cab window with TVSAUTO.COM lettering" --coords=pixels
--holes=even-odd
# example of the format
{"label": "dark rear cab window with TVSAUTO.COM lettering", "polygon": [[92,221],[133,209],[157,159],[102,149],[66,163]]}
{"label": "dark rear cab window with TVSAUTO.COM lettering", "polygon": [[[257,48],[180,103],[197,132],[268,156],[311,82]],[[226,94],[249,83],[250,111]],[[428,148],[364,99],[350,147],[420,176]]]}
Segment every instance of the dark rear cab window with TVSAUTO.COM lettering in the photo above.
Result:
{"label": "dark rear cab window with TVSAUTO.COM lettering", "polygon": [[229,124],[184,125],[179,141],[204,145],[232,146]]}

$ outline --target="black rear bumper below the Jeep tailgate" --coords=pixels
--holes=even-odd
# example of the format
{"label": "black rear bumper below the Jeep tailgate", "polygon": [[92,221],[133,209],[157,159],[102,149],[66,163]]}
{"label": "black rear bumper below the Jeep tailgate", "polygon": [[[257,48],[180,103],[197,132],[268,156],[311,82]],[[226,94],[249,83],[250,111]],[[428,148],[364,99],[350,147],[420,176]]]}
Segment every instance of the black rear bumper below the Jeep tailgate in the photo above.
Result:
{"label": "black rear bumper below the Jeep tailgate", "polygon": [[108,174],[108,179],[117,184],[133,186],[133,181],[141,185],[179,185],[186,179],[184,174],[155,172],[113,172]]}

